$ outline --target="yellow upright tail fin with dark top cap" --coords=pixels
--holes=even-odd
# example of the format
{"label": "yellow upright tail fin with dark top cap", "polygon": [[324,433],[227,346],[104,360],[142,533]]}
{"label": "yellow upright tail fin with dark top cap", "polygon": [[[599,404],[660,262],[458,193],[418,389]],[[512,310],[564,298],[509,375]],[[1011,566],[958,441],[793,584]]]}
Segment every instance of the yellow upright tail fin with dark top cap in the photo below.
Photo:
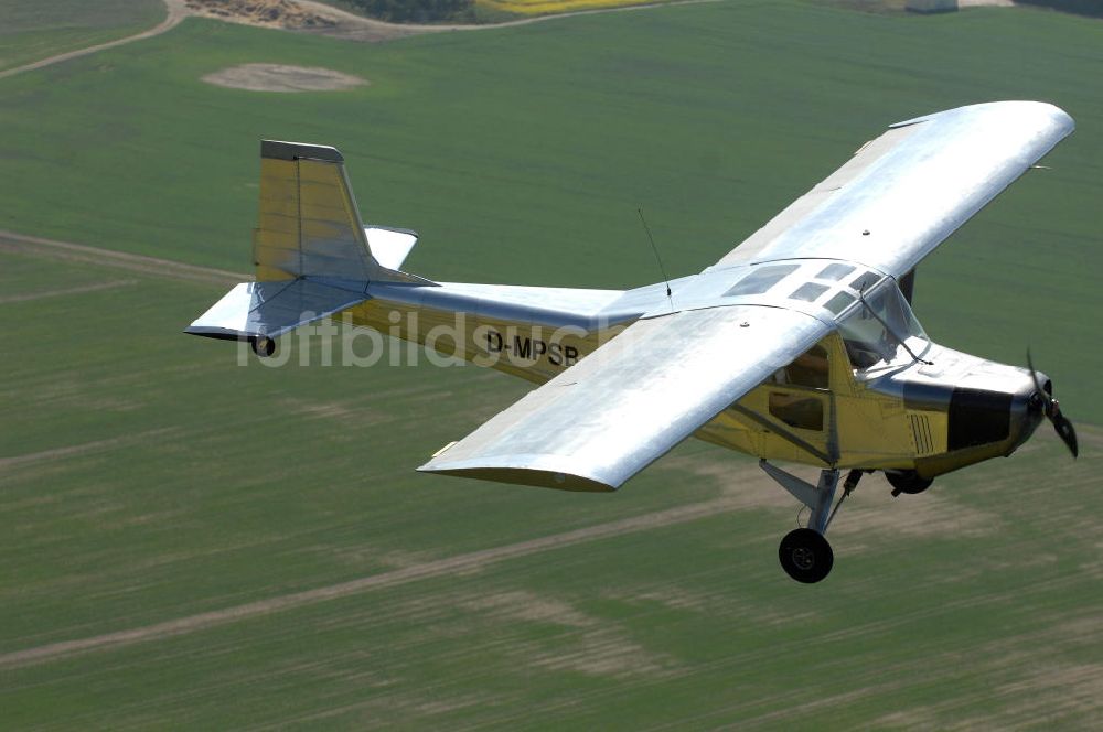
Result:
{"label": "yellow upright tail fin with dark top cap", "polygon": [[[416,240],[411,232],[370,230],[379,233],[381,244],[394,238],[384,233],[413,235]],[[260,143],[260,216],[253,241],[258,282],[310,277],[429,284],[384,267],[373,256],[344,158],[335,148]]]}

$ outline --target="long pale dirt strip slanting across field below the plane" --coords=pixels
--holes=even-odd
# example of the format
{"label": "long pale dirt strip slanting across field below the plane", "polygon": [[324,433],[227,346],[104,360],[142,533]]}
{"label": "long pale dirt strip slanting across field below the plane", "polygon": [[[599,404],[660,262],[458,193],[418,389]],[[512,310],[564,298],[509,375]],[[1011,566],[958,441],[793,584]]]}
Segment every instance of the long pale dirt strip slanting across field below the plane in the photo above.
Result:
{"label": "long pale dirt strip slanting across field below the plane", "polygon": [[480,549],[467,553],[437,559],[413,567],[371,574],[347,582],[339,582],[313,590],[304,590],[290,594],[278,595],[267,600],[257,600],[233,607],[214,610],[205,613],[178,617],[175,620],[144,625],[127,631],[105,633],[87,638],[75,640],[62,640],[43,646],[24,648],[0,655],[0,669],[14,669],[36,664],[47,663],[68,658],[78,654],[94,650],[113,650],[122,646],[147,640],[163,640],[180,635],[188,635],[199,631],[227,625],[238,621],[246,621],[254,617],[270,615],[272,613],[297,610],[308,605],[313,605],[330,600],[341,600],[373,590],[428,580],[440,577],[452,575],[462,572],[478,571],[490,564],[495,564],[507,559],[526,557],[529,555],[570,547],[578,543],[597,541],[624,534],[634,534],[652,528],[667,527],[675,524],[685,524],[702,518],[708,518],[720,513],[746,508],[747,504],[738,498],[728,496],[714,498],[665,510],[633,516],[597,526],[589,526],[581,529],[564,531],[538,539],[518,541],[490,549]]}

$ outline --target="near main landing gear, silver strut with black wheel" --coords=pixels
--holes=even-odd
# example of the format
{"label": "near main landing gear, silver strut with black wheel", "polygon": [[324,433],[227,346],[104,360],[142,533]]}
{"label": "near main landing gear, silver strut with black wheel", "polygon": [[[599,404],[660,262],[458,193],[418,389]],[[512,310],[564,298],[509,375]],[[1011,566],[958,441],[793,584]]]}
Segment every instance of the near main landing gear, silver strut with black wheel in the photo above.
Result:
{"label": "near main landing gear, silver strut with black wheel", "polygon": [[812,485],[801,478],[786,473],[785,471],[771,465],[764,460],[759,461],[759,466],[765,471],[767,475],[778,482],[797,500],[812,509],[807,527],[799,528],[785,535],[778,547],[778,559],[781,561],[785,573],[797,582],[814,584],[827,577],[832,566],[835,563],[835,552],[824,537],[827,527],[831,525],[839,506],[846,497],[858,486],[861,478],[861,471],[850,471],[843,483],[843,496],[835,504],[835,488],[838,486],[838,471],[820,471],[820,483]]}

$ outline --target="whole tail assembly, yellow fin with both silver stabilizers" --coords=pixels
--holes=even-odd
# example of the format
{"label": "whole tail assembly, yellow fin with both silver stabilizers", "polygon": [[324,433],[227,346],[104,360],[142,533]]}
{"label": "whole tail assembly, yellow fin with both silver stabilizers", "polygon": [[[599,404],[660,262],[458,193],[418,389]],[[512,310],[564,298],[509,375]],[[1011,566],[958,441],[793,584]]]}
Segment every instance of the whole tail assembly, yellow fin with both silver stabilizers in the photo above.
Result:
{"label": "whole tail assembly, yellow fin with both silver stabilizers", "polygon": [[435,284],[398,270],[416,241],[407,229],[364,227],[336,149],[264,140],[257,281],[235,287],[184,332],[275,338],[367,300],[371,282]]}

